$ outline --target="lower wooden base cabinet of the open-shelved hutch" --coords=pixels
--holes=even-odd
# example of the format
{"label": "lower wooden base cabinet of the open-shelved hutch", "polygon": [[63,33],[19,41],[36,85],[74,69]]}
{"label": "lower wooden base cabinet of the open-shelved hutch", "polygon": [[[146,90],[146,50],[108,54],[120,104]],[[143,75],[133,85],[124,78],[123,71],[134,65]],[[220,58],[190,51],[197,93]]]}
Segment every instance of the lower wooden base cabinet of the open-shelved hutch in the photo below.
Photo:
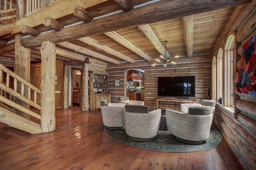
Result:
{"label": "lower wooden base cabinet of the open-shelved hutch", "polygon": [[101,108],[101,100],[106,99],[109,102],[111,102],[111,94],[110,93],[94,93],[91,97],[91,104],[90,109],[92,111],[97,111],[97,109]]}

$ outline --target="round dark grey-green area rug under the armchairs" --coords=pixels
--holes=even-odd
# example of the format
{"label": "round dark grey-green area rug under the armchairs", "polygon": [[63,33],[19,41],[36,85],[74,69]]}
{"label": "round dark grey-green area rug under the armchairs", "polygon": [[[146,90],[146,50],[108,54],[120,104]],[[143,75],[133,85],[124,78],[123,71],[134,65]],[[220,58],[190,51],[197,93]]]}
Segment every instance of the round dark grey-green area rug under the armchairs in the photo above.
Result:
{"label": "round dark grey-green area rug under the armchairs", "polygon": [[144,148],[146,150],[160,151],[160,152],[197,152],[209,150],[210,148],[218,146],[222,141],[221,134],[216,129],[210,129],[210,136],[204,143],[200,145],[191,145],[180,142],[169,131],[159,131],[154,139],[148,142],[138,142],[131,139],[126,133],[125,129],[108,129],[104,127],[106,134],[118,142],[126,145]]}

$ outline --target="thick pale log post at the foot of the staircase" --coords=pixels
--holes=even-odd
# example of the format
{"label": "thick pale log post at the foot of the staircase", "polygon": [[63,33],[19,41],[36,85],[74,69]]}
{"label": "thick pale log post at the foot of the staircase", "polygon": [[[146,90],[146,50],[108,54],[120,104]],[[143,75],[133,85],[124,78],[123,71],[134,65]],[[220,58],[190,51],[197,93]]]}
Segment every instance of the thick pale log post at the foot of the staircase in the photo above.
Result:
{"label": "thick pale log post at the foot of the staircase", "polygon": [[56,129],[55,119],[55,75],[56,50],[55,44],[44,41],[41,47],[41,125],[43,132]]}

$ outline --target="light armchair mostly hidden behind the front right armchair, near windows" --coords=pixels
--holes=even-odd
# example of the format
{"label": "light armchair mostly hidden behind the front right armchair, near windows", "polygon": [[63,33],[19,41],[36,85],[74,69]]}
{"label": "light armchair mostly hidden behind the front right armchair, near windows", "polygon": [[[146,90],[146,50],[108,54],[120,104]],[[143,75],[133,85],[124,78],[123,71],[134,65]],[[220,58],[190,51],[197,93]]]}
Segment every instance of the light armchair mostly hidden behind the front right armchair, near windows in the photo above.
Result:
{"label": "light armchair mostly hidden behind the front right armchair, near windows", "polygon": [[188,113],[188,108],[189,107],[199,107],[199,106],[201,106],[201,107],[205,107],[205,106],[213,107],[213,109],[212,109],[212,123],[213,123],[215,105],[216,105],[216,101],[197,99],[196,103],[181,103],[180,104],[180,111],[184,112],[184,113]]}

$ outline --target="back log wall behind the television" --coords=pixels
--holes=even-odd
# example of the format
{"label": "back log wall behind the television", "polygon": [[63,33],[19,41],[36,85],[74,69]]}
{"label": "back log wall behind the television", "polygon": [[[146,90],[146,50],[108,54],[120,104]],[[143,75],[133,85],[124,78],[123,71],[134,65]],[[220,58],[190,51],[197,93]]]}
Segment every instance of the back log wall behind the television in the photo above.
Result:
{"label": "back log wall behind the television", "polygon": [[[150,109],[156,109],[158,76],[196,76],[196,99],[208,99],[210,87],[210,55],[197,57],[173,58],[176,64],[152,66],[152,63],[143,61],[135,63],[121,63],[108,65],[109,91],[112,93],[112,102],[118,102],[119,96],[126,96],[126,74],[130,69],[144,70],[144,103]],[[114,80],[120,79],[120,86],[114,86]],[[179,107],[174,103],[160,103],[160,108]]]}

